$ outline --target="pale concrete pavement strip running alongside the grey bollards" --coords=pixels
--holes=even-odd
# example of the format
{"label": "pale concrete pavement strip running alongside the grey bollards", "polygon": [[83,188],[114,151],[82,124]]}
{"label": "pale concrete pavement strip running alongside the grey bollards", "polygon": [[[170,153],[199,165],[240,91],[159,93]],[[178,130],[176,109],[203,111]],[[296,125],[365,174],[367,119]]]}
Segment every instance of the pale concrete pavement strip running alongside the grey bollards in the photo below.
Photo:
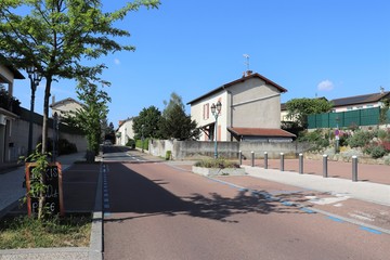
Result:
{"label": "pale concrete pavement strip running alongside the grey bollards", "polygon": [[342,193],[354,198],[390,206],[390,185],[372,182],[352,182],[339,178],[323,178],[312,174],[300,174],[292,171],[280,171],[259,167],[242,166],[252,177],[269,181],[289,184],[303,188],[326,192],[330,194]]}

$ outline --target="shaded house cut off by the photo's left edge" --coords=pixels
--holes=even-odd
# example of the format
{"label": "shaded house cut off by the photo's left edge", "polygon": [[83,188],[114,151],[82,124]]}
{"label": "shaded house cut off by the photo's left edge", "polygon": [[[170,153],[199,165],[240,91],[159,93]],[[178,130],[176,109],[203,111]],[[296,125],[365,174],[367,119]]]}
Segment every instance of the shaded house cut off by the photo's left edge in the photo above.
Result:
{"label": "shaded house cut off by the photo's left edge", "polygon": [[[15,79],[25,77],[2,55],[0,55],[0,84],[13,95]],[[15,136],[12,132],[12,125],[18,116],[12,113],[12,107],[0,107],[0,162],[9,161],[17,156],[15,150]]]}

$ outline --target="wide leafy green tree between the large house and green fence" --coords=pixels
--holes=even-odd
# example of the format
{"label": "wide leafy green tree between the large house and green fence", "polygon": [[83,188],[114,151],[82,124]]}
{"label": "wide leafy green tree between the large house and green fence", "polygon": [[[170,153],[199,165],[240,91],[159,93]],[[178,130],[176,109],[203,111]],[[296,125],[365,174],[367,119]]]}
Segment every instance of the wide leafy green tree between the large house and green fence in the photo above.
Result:
{"label": "wide leafy green tree between the large house and green fence", "polygon": [[325,99],[292,99],[286,103],[287,118],[298,122],[299,127],[307,128],[308,115],[327,113],[333,104]]}

